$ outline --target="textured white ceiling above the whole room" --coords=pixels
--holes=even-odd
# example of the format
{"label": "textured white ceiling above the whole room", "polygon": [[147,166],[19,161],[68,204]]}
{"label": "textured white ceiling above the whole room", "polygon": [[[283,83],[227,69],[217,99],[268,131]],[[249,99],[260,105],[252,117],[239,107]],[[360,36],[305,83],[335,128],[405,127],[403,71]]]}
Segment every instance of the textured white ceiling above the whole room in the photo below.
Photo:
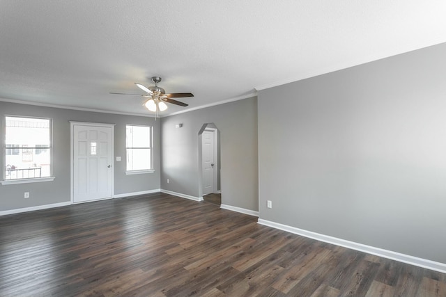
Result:
{"label": "textured white ceiling above the whole room", "polygon": [[162,115],[446,42],[446,1],[0,0],[0,100]]}

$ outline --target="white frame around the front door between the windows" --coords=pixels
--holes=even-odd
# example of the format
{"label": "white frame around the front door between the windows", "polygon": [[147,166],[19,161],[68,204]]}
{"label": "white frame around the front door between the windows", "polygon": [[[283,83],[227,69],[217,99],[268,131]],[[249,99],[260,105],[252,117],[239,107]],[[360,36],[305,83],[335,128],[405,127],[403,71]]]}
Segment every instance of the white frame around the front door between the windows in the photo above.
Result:
{"label": "white frame around the front door between the windows", "polygon": [[[72,121],[70,120],[70,200],[71,200],[71,204],[75,203],[74,200],[74,192],[75,192],[75,184],[74,184],[74,178],[75,178],[75,150],[74,150],[74,145],[75,145],[75,125],[77,126],[88,126],[88,127],[106,127],[106,128],[112,128],[112,145],[110,145],[110,150],[111,150],[111,154],[112,154],[112,177],[111,177],[111,182],[112,182],[112,197],[114,198],[114,124],[103,124],[103,123],[99,123],[99,122],[76,122],[76,121]],[[109,199],[109,198],[107,198]]]}

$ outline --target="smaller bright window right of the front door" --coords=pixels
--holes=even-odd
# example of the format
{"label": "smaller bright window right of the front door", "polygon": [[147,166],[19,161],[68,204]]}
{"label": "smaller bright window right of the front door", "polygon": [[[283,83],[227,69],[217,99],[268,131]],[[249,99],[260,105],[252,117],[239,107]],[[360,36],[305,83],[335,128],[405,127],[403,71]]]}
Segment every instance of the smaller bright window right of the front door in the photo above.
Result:
{"label": "smaller bright window right of the front door", "polygon": [[126,126],[127,174],[153,172],[152,127]]}

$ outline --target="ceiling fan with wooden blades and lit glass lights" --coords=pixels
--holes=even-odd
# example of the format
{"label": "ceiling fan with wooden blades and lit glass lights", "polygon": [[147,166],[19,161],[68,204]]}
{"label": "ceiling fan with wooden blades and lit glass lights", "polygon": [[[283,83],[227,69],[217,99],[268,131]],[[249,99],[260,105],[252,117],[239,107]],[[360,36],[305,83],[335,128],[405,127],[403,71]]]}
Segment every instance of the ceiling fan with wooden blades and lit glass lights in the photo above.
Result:
{"label": "ceiling fan with wooden blades and lit glass lights", "polygon": [[118,95],[134,95],[134,96],[142,96],[148,98],[143,106],[146,106],[146,109],[153,112],[158,111],[165,111],[167,109],[167,103],[176,104],[179,106],[187,106],[188,104],[185,104],[183,102],[176,101],[172,98],[183,98],[183,97],[194,97],[192,93],[169,93],[166,94],[166,91],[164,91],[163,88],[160,88],[158,86],[158,83],[161,81],[161,77],[152,77],[153,83],[155,83],[155,86],[146,87],[141,85],[141,83],[134,83],[138,86],[141,90],[144,90],[147,94],[140,95],[140,94],[125,94],[125,93],[110,93],[110,94],[118,94]]}

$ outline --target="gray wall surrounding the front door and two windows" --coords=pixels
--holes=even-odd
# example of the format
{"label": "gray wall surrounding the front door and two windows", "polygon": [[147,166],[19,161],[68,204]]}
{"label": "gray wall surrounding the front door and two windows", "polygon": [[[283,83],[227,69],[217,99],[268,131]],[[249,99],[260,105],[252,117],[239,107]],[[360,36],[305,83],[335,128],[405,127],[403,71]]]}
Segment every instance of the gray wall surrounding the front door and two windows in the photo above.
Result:
{"label": "gray wall surrounding the front door and two windows", "polygon": [[[43,106],[0,102],[2,131],[5,115],[24,115],[52,118],[53,120],[53,182],[32,184],[0,184],[0,211],[36,207],[45,204],[70,202],[70,120],[115,124],[114,154],[121,162],[114,162],[114,193],[125,194],[160,188],[160,120],[132,115],[115,115],[55,109]],[[125,175],[125,125],[152,125],[154,131],[155,172],[144,175]],[[3,137],[0,147],[4,147]],[[2,152],[3,154],[3,152]],[[116,160],[116,158],[114,158]],[[5,168],[3,157],[0,168]],[[3,174],[0,175],[3,178]],[[31,198],[24,199],[24,192]]]}

